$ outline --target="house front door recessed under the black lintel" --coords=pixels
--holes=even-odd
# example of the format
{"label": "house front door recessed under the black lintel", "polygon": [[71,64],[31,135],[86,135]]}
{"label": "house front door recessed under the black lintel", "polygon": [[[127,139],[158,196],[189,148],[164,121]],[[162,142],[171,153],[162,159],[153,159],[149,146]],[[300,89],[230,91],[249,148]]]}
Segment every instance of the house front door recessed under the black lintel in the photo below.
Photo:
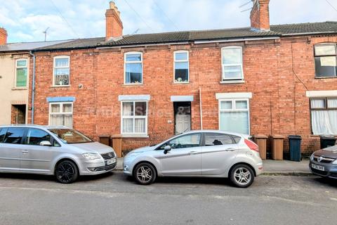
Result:
{"label": "house front door recessed under the black lintel", "polygon": [[174,124],[176,134],[191,130],[191,102],[174,103]]}

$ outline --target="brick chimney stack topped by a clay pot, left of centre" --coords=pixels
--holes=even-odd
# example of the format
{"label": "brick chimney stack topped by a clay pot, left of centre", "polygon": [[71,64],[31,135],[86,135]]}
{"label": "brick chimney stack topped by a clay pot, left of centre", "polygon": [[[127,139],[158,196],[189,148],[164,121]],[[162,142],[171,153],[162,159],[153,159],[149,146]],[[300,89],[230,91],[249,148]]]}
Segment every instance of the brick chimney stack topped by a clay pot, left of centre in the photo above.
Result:
{"label": "brick chimney stack topped by a clay pot, left of centre", "polygon": [[105,41],[123,35],[123,23],[121,23],[120,15],[121,13],[118,11],[117,6],[113,1],[110,1],[110,8],[107,9],[107,12],[105,13]]}

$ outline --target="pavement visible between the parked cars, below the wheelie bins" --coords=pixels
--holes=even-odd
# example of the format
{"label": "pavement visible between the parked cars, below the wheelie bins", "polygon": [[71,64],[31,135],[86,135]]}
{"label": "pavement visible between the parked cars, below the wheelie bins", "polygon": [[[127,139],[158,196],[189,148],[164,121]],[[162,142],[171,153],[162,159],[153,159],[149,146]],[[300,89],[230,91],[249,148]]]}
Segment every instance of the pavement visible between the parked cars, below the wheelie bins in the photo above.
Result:
{"label": "pavement visible between the parked cars, below the wheelie bins", "polygon": [[[311,174],[309,160],[263,160],[264,175],[308,176]],[[117,159],[117,171],[123,171],[123,158]]]}

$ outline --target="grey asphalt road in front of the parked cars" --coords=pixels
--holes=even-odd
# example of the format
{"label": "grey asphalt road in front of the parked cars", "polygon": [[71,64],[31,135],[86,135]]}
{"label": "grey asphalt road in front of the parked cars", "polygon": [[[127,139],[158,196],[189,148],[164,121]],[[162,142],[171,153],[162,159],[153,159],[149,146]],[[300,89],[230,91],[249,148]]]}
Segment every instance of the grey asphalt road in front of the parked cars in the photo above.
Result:
{"label": "grey asphalt road in front of the parked cars", "polygon": [[159,179],[136,185],[121,172],[70,185],[50,176],[0,174],[0,224],[335,224],[337,182],[259,176],[250,188],[225,179]]}

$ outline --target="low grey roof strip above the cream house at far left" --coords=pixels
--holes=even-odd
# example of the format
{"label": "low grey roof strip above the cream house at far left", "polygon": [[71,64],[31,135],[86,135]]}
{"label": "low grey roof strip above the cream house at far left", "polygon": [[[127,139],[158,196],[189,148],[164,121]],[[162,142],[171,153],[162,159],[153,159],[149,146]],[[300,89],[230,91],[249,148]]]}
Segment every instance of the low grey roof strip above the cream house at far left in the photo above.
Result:
{"label": "low grey roof strip above the cream house at far left", "polygon": [[55,44],[65,43],[70,40],[62,40],[62,41],[35,41],[35,42],[18,42],[18,43],[9,43],[6,45],[0,45],[0,52],[6,51],[31,51],[33,49],[46,47]]}

